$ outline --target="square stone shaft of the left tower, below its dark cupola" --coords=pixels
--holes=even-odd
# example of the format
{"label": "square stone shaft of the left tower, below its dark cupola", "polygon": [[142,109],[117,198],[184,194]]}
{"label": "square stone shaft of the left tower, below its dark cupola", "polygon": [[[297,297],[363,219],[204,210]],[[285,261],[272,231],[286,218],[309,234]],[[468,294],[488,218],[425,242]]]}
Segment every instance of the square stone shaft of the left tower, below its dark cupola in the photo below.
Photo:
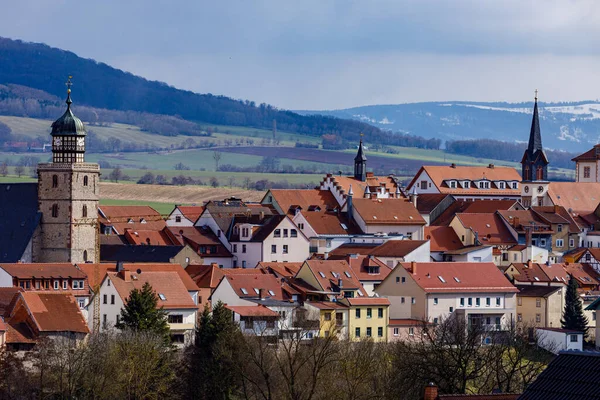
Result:
{"label": "square stone shaft of the left tower, below its dark cupola", "polygon": [[[57,185],[54,185],[54,176]],[[87,181],[86,181],[87,177]],[[40,164],[38,201],[41,230],[34,262],[99,262],[100,167],[93,163]],[[53,215],[56,205],[58,213]],[[84,216],[84,206],[87,216]]]}

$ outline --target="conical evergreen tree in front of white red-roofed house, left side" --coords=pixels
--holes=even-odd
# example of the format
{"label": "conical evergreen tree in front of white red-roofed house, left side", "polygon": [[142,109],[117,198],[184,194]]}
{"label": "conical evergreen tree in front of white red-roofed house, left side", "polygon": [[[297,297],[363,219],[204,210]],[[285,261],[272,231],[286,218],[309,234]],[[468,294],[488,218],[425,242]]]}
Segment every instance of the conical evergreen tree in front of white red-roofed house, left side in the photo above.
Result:
{"label": "conical evergreen tree in front of white red-roofed house, left side", "polygon": [[158,308],[158,296],[152,286],[146,282],[142,290],[133,289],[121,309],[121,317],[116,327],[132,331],[152,332],[170,343],[170,328],[167,312]]}

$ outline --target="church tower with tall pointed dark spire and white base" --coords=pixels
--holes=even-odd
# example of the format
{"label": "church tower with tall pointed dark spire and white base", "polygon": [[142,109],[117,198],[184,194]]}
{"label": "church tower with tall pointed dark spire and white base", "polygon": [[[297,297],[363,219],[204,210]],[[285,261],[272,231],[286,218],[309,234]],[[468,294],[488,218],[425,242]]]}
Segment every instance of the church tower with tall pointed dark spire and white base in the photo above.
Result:
{"label": "church tower with tall pointed dark spire and white base", "polygon": [[548,192],[549,184],[548,164],[548,158],[542,147],[536,90],[529,144],[521,159],[521,198],[525,207],[544,205],[544,197]]}

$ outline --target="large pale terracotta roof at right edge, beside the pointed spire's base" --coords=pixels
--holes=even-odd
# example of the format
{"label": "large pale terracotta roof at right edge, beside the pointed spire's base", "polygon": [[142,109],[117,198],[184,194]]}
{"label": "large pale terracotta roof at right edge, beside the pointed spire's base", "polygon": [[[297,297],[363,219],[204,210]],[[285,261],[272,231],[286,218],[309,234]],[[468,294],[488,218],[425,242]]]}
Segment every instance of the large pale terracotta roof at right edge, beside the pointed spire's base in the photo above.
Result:
{"label": "large pale terracotta roof at right edge, beside the pointed spire's base", "polygon": [[550,182],[548,195],[552,203],[569,212],[591,213],[600,203],[600,183]]}

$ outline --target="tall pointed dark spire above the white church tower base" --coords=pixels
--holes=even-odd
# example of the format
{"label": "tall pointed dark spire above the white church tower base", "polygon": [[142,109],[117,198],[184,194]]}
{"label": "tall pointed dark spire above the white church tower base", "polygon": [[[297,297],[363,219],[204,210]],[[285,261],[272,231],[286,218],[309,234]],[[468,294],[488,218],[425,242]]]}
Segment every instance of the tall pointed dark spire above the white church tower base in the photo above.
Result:
{"label": "tall pointed dark spire above the white church tower base", "polygon": [[521,160],[522,177],[524,182],[548,180],[548,158],[542,147],[542,134],[537,106],[537,90],[533,106],[533,118],[529,132],[529,143]]}

